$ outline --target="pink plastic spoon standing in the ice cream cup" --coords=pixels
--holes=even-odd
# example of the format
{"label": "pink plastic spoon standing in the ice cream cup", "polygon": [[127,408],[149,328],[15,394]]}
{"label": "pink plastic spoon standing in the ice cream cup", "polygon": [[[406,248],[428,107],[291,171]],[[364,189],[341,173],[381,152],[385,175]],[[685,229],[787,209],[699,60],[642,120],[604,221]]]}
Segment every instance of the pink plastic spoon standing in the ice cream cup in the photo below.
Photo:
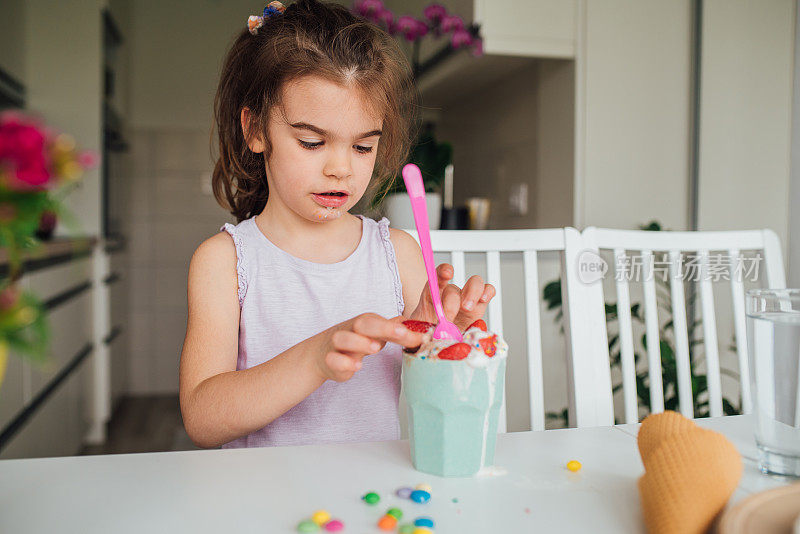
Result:
{"label": "pink plastic spoon standing in the ice cream cup", "polygon": [[436,276],[436,267],[433,265],[433,247],[431,247],[431,232],[428,224],[428,208],[425,204],[425,186],[422,185],[422,173],[419,171],[419,167],[413,163],[403,167],[403,181],[406,183],[408,196],[411,197],[411,211],[414,212],[414,224],[417,226],[419,244],[422,247],[422,259],[425,261],[425,271],[428,273],[431,300],[433,300],[436,316],[439,318],[439,324],[433,331],[433,337],[462,341],[461,331],[447,320],[447,317],[444,316],[444,309],[442,309],[439,280]]}

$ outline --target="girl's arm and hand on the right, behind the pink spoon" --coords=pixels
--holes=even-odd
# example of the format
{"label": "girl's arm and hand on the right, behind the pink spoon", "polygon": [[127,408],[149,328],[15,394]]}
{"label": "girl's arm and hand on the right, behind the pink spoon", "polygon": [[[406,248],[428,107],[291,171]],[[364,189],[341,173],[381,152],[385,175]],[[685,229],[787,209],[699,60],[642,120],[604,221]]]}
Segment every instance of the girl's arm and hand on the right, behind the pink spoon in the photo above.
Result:
{"label": "girl's arm and hand on the right, behind the pink spoon", "polygon": [[[392,244],[400,269],[400,281],[403,284],[403,300],[406,303],[403,315],[410,319],[419,319],[436,323],[436,311],[433,309],[428,275],[422,260],[419,244],[408,233],[394,228],[389,229]],[[495,295],[494,286],[484,284],[480,276],[472,276],[464,288],[450,284],[453,279],[453,267],[442,263],[436,268],[442,308],[448,319],[465,330],[486,313],[486,306]]]}

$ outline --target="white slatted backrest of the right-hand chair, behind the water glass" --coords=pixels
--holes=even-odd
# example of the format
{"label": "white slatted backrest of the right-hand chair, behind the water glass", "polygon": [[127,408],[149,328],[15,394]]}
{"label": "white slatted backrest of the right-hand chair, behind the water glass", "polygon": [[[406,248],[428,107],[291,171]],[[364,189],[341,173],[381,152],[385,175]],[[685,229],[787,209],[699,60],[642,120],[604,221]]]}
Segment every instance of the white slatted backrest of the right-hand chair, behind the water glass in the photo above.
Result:
{"label": "white slatted backrest of the right-hand chair, behind the water glass", "polygon": [[[677,395],[680,412],[693,417],[692,371],[690,343],[687,328],[687,308],[684,278],[687,269],[694,269],[698,276],[693,280],[699,286],[701,323],[704,336],[705,367],[709,395],[709,415],[723,415],[722,388],[720,380],[719,344],[714,309],[712,282],[719,281],[720,259],[727,268],[733,302],[733,331],[736,338],[742,411],[752,409],[749,368],[747,363],[747,330],[744,309],[743,274],[747,267],[745,251],[757,251],[758,261],[751,262],[758,267],[763,261],[766,284],[769,288],[784,288],[785,275],[780,242],[771,230],[747,230],[725,232],[651,232],[611,230],[590,227],[583,231],[581,239],[567,242],[568,261],[577,265],[577,255],[589,250],[595,254],[607,250],[613,253],[613,265],[609,272],[614,273],[617,298],[617,320],[619,323],[620,367],[622,375],[624,419],[626,423],[639,420],[637,402],[636,362],[634,359],[634,335],[631,320],[631,299],[629,279],[642,276],[642,297],[644,314],[644,339],[646,341],[647,368],[649,378],[649,401],[651,413],[664,410],[664,391],[662,382],[662,360],[659,336],[660,323],[657,305],[657,286],[655,273],[658,269],[654,253],[665,254],[662,265],[665,278],[669,279],[669,302],[672,311],[675,364],[677,372]],[[684,255],[688,253],[688,256]],[[713,254],[716,253],[716,254]],[[687,261],[687,257],[690,259]],[[573,258],[570,260],[570,258]],[[638,258],[638,262],[636,259]],[[717,260],[716,262],[713,260]],[[752,259],[752,258],[751,258]],[[624,274],[620,275],[620,271]],[[627,272],[626,272],[627,271]],[[716,272],[716,276],[715,276]],[[582,317],[573,314],[572,325],[582,328],[587,343],[582,346],[592,354],[589,364],[594,369],[594,387],[576,387],[577,410],[594,413],[592,423],[587,416],[578,421],[584,424],[614,424],[613,391],[609,370],[609,346],[606,330],[605,298],[601,282],[581,283],[577,270],[567,269],[567,284],[573,298],[582,301]],[[723,277],[724,279],[725,277]],[[692,282],[692,283],[695,283]],[[666,295],[665,295],[666,296]]]}

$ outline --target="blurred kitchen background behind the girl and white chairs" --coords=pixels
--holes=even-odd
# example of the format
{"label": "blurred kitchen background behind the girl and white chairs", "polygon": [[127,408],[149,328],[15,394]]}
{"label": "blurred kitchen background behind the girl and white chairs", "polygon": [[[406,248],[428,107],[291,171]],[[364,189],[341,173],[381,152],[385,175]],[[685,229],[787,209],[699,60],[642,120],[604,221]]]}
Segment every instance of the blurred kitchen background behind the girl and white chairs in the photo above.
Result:
{"label": "blurred kitchen background behind the girl and white chairs", "polygon": [[[473,219],[451,228],[771,228],[788,284],[800,284],[795,1],[438,3],[469,42],[396,38],[415,64],[426,146],[441,148],[420,156],[429,192],[455,211],[473,206]],[[383,8],[424,20],[429,4]],[[192,447],[177,405],[188,264],[234,222],[211,193],[212,104],[228,46],[263,7],[0,0],[2,107],[35,113],[100,155],[65,199],[76,224],[58,224],[27,265],[25,287],[62,300],[50,315],[50,365],[9,358],[0,458]],[[483,221],[478,205],[488,206]],[[388,200],[363,208],[410,226]],[[94,251],[53,260],[78,236],[96,240]],[[507,337],[522,347],[513,320],[522,272],[513,257],[506,265]],[[542,289],[558,273],[558,257],[543,258]],[[542,314],[546,403],[560,412],[563,335],[555,312]],[[718,322],[730,338],[730,319]],[[509,367],[523,370],[521,358]],[[512,431],[529,428],[526,380],[509,372]]]}

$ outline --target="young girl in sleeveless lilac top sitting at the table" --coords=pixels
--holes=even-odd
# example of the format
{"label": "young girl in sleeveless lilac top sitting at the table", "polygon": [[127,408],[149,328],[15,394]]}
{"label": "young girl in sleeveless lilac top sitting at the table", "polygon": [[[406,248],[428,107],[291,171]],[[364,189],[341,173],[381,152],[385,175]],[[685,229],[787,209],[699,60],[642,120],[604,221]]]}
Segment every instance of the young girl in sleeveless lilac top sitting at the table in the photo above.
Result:
{"label": "young girl in sleeveless lilac top sitting at the table", "polygon": [[[393,38],[336,4],[273,2],[236,39],[213,187],[239,224],[189,268],[180,401],[197,445],[399,439],[401,346],[422,342],[402,321],[436,315],[416,241],[349,210],[399,172],[414,91]],[[452,273],[439,286],[464,329],[494,288]]]}

